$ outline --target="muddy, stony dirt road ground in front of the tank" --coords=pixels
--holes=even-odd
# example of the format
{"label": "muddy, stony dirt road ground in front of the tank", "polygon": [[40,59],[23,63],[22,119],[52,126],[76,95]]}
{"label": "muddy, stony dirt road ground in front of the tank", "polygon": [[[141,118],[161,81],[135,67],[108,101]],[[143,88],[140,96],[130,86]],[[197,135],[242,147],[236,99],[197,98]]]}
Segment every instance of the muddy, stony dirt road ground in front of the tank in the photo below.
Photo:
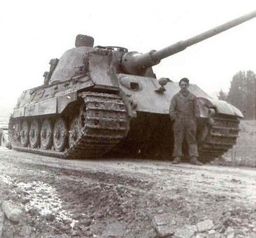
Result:
{"label": "muddy, stony dirt road ground in front of the tank", "polygon": [[174,229],[211,219],[193,237],[256,234],[253,168],[65,161],[5,148],[0,158],[1,200],[25,211],[19,223],[4,219],[3,237],[157,237],[159,214],[172,214]]}

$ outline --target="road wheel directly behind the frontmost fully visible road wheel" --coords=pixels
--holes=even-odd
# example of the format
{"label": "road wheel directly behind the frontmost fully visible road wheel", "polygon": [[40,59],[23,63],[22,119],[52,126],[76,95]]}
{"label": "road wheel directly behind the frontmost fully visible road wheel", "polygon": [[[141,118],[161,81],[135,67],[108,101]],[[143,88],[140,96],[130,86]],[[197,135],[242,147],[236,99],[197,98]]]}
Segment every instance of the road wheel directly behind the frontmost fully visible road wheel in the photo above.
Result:
{"label": "road wheel directly behind the frontmost fully visible road wheel", "polygon": [[52,146],[52,123],[45,119],[40,132],[41,148],[47,150]]}

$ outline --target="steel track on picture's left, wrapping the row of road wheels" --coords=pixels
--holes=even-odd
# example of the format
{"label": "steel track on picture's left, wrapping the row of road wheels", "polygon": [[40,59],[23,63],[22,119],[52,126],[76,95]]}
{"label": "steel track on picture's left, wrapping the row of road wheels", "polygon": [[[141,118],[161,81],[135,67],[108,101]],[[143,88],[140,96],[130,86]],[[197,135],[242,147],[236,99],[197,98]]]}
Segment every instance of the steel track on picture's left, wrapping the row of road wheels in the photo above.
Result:
{"label": "steel track on picture's left, wrapping the row of road wheels", "polygon": [[[86,108],[81,134],[70,148],[64,152],[22,147],[13,138],[13,123],[9,129],[14,150],[63,159],[92,159],[105,154],[127,136],[129,121],[122,99],[110,93],[81,93]],[[12,118],[10,121],[13,120]]]}

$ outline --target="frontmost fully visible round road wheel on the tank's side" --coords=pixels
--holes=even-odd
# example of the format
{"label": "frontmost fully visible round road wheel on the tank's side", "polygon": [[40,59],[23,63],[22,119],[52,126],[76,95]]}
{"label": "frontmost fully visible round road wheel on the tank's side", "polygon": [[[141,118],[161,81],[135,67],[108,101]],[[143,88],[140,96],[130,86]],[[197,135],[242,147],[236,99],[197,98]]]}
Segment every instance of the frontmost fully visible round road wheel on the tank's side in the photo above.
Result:
{"label": "frontmost fully visible round road wheel on the tank's side", "polygon": [[56,151],[63,151],[67,145],[67,125],[63,118],[58,118],[54,123],[53,146]]}

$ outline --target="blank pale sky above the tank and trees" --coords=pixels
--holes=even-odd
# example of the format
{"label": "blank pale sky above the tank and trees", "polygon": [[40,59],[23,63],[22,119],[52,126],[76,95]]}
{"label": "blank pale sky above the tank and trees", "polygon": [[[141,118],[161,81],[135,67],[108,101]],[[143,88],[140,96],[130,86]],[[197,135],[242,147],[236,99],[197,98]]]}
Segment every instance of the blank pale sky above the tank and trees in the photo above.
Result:
{"label": "blank pale sky above the tank and trees", "polygon": [[[22,91],[43,83],[50,59],[74,47],[78,34],[93,36],[95,45],[143,53],[254,10],[255,0],[1,1],[0,114]],[[188,77],[210,95],[227,92],[239,70],[256,72],[255,29],[256,18],[163,59],[154,72],[172,81]]]}

